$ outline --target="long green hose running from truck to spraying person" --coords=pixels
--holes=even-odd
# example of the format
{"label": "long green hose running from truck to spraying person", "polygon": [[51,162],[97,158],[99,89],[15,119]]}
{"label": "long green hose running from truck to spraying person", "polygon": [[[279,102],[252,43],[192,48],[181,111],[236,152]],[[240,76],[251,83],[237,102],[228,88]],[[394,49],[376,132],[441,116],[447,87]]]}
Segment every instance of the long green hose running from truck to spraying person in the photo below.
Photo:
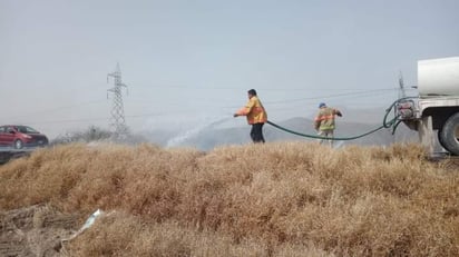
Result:
{"label": "long green hose running from truck to spraying person", "polygon": [[282,126],[279,126],[279,125],[276,125],[276,123],[274,123],[274,122],[271,122],[270,120],[267,120],[267,123],[271,125],[271,126],[273,126],[273,127],[275,127],[275,128],[277,128],[277,129],[281,129],[281,130],[283,130],[283,131],[285,131],[285,132],[290,132],[290,134],[293,134],[293,135],[296,135],[296,136],[306,137],[306,138],[315,138],[315,139],[329,139],[329,140],[336,140],[336,141],[338,141],[338,140],[353,140],[353,139],[358,139],[358,138],[368,136],[368,135],[370,135],[370,134],[373,134],[373,132],[375,132],[375,131],[378,131],[378,130],[380,130],[380,129],[390,128],[390,127],[393,127],[393,129],[392,129],[392,135],[393,135],[393,134],[395,134],[395,129],[397,129],[397,127],[399,126],[399,123],[401,122],[401,120],[399,120],[399,116],[395,116],[395,117],[393,117],[391,120],[388,121],[388,116],[389,116],[389,113],[391,112],[391,110],[395,107],[395,105],[397,105],[399,101],[404,100],[404,99],[409,99],[409,98],[411,98],[411,97],[400,98],[400,99],[398,99],[397,101],[394,101],[388,109],[385,109],[384,119],[382,120],[382,125],[381,125],[380,127],[378,127],[378,128],[375,128],[375,129],[372,129],[372,130],[370,130],[370,131],[368,131],[368,132],[364,132],[364,134],[362,134],[362,135],[354,136],[354,137],[328,138],[328,137],[322,137],[322,136],[318,136],[318,135],[307,135],[307,134],[296,132],[296,131],[290,130],[290,129],[287,129],[287,128],[284,128],[284,127],[282,127]]}

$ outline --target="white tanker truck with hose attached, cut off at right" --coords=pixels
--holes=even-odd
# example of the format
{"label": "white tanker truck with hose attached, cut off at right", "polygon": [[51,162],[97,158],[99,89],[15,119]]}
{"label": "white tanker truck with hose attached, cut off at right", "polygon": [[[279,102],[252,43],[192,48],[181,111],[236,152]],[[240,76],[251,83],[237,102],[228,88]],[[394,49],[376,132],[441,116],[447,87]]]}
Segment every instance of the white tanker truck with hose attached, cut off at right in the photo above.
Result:
{"label": "white tanker truck with hose attached, cut off at right", "polygon": [[419,96],[399,99],[399,119],[418,131],[430,155],[440,145],[459,156],[459,57],[418,61],[417,88]]}

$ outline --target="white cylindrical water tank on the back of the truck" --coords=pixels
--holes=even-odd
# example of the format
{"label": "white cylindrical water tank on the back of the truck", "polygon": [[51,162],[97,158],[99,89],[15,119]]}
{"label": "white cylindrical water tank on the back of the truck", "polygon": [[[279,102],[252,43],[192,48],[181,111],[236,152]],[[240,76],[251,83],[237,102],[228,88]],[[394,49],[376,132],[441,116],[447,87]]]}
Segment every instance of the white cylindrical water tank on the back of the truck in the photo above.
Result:
{"label": "white cylindrical water tank on the back of the truck", "polygon": [[459,57],[418,61],[420,97],[459,97]]}

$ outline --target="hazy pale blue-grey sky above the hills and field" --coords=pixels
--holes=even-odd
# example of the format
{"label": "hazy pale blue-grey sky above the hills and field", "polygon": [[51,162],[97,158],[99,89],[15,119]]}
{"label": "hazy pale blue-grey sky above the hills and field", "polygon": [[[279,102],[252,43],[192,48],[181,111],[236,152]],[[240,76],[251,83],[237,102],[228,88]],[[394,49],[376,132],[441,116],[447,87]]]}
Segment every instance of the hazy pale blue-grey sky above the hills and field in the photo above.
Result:
{"label": "hazy pale blue-grey sky above the hills and field", "polygon": [[[397,99],[401,71],[459,56],[458,0],[0,0],[0,122],[108,128],[119,62],[134,131],[203,126],[255,88],[272,121]],[[352,115],[352,113],[346,113]]]}

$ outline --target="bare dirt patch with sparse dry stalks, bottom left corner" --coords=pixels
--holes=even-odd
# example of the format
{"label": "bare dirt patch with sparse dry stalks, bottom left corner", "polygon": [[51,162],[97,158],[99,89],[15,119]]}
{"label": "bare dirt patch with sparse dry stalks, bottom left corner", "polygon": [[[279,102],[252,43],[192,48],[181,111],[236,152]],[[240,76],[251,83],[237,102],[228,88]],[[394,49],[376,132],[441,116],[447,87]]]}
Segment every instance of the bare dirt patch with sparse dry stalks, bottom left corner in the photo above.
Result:
{"label": "bare dirt patch with sparse dry stalks, bottom left corner", "polygon": [[45,205],[0,211],[0,256],[67,256],[65,240],[80,223]]}

